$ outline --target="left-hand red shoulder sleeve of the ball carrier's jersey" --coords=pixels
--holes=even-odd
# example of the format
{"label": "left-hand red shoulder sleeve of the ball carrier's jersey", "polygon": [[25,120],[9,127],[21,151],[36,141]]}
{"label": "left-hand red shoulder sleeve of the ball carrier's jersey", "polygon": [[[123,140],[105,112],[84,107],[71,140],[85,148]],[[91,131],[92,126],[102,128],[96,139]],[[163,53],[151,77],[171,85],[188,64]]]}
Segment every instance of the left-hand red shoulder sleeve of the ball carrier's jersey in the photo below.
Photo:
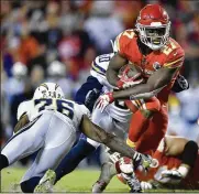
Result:
{"label": "left-hand red shoulder sleeve of the ball carrier's jersey", "polygon": [[133,30],[126,30],[117,36],[115,47],[122,56],[128,57],[128,52],[130,51],[130,43],[134,36],[135,33]]}

